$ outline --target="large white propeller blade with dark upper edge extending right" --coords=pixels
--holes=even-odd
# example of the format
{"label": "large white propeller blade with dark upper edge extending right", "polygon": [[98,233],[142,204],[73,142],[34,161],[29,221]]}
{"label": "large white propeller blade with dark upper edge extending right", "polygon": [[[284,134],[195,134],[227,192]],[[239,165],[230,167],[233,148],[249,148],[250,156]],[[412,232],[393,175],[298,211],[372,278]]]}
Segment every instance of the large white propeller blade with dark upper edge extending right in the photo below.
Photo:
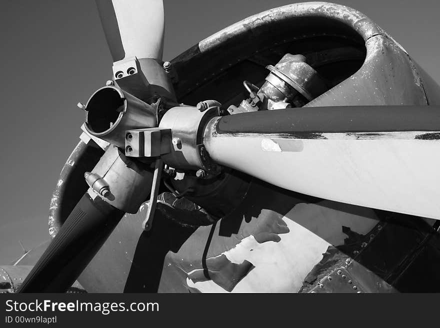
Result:
{"label": "large white propeller blade with dark upper edge extending right", "polygon": [[440,219],[440,107],[345,106],[211,120],[211,159],[333,201]]}

